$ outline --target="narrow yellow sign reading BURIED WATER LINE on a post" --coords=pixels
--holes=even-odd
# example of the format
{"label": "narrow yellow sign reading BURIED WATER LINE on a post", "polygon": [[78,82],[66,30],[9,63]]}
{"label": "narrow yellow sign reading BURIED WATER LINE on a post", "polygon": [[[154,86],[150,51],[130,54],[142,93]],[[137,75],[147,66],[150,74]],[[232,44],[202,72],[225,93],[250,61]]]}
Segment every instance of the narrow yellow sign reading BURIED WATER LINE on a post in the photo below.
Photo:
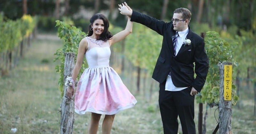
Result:
{"label": "narrow yellow sign reading BURIED WATER LINE on a post", "polygon": [[232,65],[224,65],[224,100],[231,100]]}

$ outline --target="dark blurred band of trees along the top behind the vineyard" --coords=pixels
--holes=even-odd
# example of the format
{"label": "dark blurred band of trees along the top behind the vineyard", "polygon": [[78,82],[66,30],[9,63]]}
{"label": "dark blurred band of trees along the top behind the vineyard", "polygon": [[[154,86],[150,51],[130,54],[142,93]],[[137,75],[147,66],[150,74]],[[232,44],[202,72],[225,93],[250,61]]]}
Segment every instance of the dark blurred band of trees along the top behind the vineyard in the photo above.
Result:
{"label": "dark blurred band of trees along the top behind the vineyard", "polygon": [[[21,18],[25,12],[31,15],[60,17],[60,12],[56,11],[60,11],[61,7],[65,8],[65,16],[72,17],[80,11],[80,7],[84,7],[84,10],[94,13],[109,11],[108,17],[112,19],[114,11],[118,8],[117,4],[123,2],[124,0],[1,0],[0,11],[3,11],[7,18],[15,20]],[[236,25],[239,29],[247,31],[253,28],[256,16],[256,0],[126,0],[126,2],[133,10],[160,20],[170,20],[176,8],[185,7],[192,13],[192,23],[208,23],[212,27]],[[119,19],[121,20],[118,14],[114,21],[119,23]],[[118,25],[121,26],[121,23],[123,22]]]}

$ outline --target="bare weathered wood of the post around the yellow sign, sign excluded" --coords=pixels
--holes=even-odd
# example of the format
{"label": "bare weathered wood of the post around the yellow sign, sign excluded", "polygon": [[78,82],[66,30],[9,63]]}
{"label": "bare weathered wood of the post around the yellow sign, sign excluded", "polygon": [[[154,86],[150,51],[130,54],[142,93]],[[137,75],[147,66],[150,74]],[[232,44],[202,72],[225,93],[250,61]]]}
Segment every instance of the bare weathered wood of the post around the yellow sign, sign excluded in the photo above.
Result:
{"label": "bare weathered wood of the post around the yellow sign, sign excluded", "polygon": [[[231,109],[231,100],[224,99],[224,65],[231,65],[232,62],[222,62],[218,63],[220,69],[220,104],[219,104],[219,117],[220,117],[220,134],[232,134],[231,132],[231,116],[232,116],[232,109]],[[232,78],[232,76],[229,76]],[[229,83],[232,85],[232,83]],[[231,94],[229,94],[231,96]]]}

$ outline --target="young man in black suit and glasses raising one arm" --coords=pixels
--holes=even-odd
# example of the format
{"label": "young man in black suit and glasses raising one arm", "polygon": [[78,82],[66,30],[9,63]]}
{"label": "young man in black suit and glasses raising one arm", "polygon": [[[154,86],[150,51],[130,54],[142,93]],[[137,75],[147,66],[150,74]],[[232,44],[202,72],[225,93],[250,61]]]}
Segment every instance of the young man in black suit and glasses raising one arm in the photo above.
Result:
{"label": "young man in black suit and glasses raising one arm", "polygon": [[178,115],[183,134],[195,134],[194,100],[204,86],[209,61],[204,39],[188,26],[191,12],[186,8],[178,8],[173,13],[172,21],[164,22],[132,11],[124,4],[128,8],[121,14],[130,16],[131,21],[145,25],[163,36],[162,49],[152,78],[159,82],[159,107],[164,134],[178,133]]}

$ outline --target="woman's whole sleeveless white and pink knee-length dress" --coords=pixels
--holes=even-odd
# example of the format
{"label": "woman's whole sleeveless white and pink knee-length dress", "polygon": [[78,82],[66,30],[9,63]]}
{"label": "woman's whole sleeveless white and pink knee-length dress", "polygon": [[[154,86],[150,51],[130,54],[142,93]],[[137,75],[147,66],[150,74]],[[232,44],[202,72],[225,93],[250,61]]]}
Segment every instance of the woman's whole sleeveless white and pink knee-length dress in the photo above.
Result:
{"label": "woman's whole sleeveless white and pink knee-length dress", "polygon": [[81,75],[75,95],[75,112],[113,115],[137,103],[116,71],[109,66],[108,41],[85,37],[89,49],[85,53],[88,68]]}

